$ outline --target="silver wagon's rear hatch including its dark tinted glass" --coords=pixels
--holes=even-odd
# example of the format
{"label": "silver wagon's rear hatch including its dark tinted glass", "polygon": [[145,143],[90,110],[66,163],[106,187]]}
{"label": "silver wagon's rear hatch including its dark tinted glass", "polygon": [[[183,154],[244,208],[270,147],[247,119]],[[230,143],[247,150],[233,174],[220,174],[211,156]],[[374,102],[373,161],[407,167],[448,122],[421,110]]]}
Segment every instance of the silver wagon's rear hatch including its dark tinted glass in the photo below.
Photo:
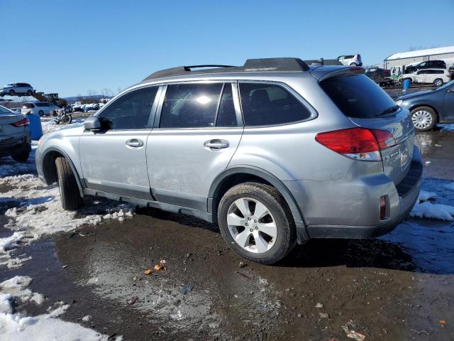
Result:
{"label": "silver wagon's rear hatch including its dark tinted glass", "polygon": [[386,130],[394,136],[395,141],[389,141],[389,147],[381,149],[383,171],[395,185],[401,183],[409,172],[414,147],[414,126],[408,110],[397,106],[386,92],[362,74],[323,77],[320,85],[354,124]]}

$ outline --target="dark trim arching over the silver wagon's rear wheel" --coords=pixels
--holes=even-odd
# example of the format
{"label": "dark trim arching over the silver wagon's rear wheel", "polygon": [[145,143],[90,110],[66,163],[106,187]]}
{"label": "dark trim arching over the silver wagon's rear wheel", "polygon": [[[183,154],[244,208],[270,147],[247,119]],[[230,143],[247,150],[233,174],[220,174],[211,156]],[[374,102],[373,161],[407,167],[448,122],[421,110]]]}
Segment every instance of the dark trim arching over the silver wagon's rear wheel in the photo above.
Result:
{"label": "dark trim arching over the silver wagon's rear wheel", "polygon": [[227,168],[225,171],[220,173],[211,183],[211,187],[209,189],[208,200],[207,200],[207,210],[209,214],[212,215],[214,222],[217,222],[217,209],[216,207],[216,200],[215,197],[217,195],[218,190],[220,189],[220,185],[228,176],[236,175],[236,174],[250,174],[258,176],[266,180],[268,183],[273,185],[279,193],[284,197],[284,200],[289,205],[290,211],[292,212],[293,219],[295,222],[295,226],[297,227],[297,242],[298,244],[303,244],[306,240],[309,239],[309,234],[306,230],[306,223],[304,222],[304,217],[299,210],[296,200],[294,199],[292,193],[287,188],[281,180],[276,178],[275,175],[272,173],[263,170],[262,168],[258,168],[255,166],[233,166],[231,168]]}

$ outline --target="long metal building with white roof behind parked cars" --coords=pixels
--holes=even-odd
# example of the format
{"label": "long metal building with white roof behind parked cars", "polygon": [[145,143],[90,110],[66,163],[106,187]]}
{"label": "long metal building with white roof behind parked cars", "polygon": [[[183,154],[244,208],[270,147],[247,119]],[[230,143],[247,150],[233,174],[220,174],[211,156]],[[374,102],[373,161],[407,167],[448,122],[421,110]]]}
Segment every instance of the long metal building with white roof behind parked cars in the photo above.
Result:
{"label": "long metal building with white roof behind parked cars", "polygon": [[394,53],[384,60],[384,68],[406,67],[411,63],[419,63],[425,60],[444,60],[446,67],[450,67],[454,64],[454,46]]}

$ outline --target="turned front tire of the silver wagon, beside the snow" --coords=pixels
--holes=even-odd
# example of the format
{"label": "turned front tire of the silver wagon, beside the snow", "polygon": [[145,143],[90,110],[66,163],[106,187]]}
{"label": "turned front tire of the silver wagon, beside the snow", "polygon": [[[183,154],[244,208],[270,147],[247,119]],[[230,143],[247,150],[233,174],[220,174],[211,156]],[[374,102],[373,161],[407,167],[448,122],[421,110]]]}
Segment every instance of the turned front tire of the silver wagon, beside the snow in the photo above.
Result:
{"label": "turned front tire of the silver wagon, beside the snow", "polygon": [[66,158],[59,157],[55,159],[55,166],[57,167],[58,188],[63,210],[77,210],[84,202],[80,196],[76,177],[72,173],[70,163]]}

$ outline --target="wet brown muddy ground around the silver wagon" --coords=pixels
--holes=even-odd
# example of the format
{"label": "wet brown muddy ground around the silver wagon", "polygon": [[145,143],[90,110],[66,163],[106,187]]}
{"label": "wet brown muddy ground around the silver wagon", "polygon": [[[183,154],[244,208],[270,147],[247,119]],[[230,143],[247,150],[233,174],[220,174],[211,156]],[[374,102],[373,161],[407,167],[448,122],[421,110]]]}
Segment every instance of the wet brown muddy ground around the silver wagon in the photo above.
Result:
{"label": "wet brown muddy ground around the silver wagon", "polygon": [[[416,144],[431,162],[423,188],[454,205],[454,192],[441,191],[454,178],[454,130],[417,134]],[[61,318],[126,340],[353,340],[345,328],[367,341],[454,339],[452,222],[409,219],[379,239],[311,240],[260,266],[228,249],[216,225],[136,213],[18,248],[33,259],[0,269],[0,281],[31,276],[33,291],[71,305]],[[160,259],[167,270],[143,274]]]}

